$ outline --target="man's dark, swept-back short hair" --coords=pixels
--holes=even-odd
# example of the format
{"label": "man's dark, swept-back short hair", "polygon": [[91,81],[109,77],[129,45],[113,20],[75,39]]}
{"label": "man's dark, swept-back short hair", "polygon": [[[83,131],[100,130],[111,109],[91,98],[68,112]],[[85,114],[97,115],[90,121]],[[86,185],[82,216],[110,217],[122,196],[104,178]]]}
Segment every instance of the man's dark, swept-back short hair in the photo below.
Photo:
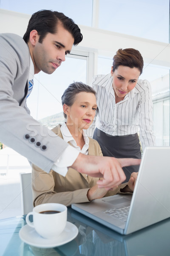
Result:
{"label": "man's dark, swept-back short hair", "polygon": [[24,41],[26,43],[29,41],[30,32],[35,29],[40,35],[39,43],[42,43],[47,33],[55,34],[57,32],[57,24],[59,22],[73,36],[74,45],[82,41],[82,34],[77,24],[62,12],[53,12],[51,10],[40,10],[31,16],[27,31],[23,36]]}

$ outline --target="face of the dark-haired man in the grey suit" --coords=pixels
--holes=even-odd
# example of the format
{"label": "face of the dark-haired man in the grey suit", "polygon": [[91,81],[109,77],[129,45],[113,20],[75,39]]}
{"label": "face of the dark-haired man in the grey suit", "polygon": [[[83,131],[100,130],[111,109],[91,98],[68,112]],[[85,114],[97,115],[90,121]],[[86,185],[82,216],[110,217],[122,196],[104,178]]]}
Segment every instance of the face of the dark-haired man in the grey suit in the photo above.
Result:
{"label": "face of the dark-haired man in the grey suit", "polygon": [[35,74],[42,70],[47,74],[52,74],[67,55],[74,44],[74,38],[70,32],[57,25],[57,33],[48,33],[39,43],[39,36],[32,50]]}

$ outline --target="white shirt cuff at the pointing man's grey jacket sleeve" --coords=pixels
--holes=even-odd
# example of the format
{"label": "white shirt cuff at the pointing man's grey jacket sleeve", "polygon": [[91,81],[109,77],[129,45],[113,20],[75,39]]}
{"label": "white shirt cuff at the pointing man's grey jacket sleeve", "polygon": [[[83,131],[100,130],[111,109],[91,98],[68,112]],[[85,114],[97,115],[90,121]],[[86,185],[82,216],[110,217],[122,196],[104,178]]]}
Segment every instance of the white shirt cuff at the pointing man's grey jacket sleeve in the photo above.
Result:
{"label": "white shirt cuff at the pointing man's grey jacket sleeve", "polygon": [[68,172],[68,166],[72,166],[74,161],[77,159],[79,151],[68,145],[64,152],[59,156],[59,159],[53,164],[52,170],[65,177]]}

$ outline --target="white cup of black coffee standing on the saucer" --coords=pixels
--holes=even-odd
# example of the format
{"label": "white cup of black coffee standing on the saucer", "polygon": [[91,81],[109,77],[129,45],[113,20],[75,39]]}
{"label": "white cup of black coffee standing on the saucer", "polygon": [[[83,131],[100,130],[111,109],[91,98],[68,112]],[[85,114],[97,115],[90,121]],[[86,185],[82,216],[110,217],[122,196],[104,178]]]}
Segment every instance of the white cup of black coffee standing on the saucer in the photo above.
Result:
{"label": "white cup of black coffee standing on the saucer", "polygon": [[[41,213],[45,211],[58,211],[57,213]],[[33,215],[33,222],[29,216]],[[43,238],[53,239],[65,229],[67,222],[67,207],[63,204],[40,204],[33,208],[33,212],[26,215],[26,223],[33,227]]]}

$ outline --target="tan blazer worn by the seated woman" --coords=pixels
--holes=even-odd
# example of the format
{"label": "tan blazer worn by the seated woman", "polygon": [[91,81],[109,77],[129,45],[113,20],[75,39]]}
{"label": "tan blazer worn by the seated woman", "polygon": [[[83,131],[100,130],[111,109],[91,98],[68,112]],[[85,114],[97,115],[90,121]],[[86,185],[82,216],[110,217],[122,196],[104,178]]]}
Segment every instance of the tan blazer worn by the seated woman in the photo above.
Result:
{"label": "tan blazer worn by the seated woman", "polygon": [[[58,135],[62,137],[59,126]],[[88,154],[102,155],[101,148],[96,140],[90,139]],[[61,203],[66,206],[72,203],[88,202],[87,192],[96,185],[98,178],[80,174],[76,170],[69,168],[65,177],[57,174],[53,170],[49,174],[39,167],[32,165],[32,192],[34,206],[44,203]]]}

